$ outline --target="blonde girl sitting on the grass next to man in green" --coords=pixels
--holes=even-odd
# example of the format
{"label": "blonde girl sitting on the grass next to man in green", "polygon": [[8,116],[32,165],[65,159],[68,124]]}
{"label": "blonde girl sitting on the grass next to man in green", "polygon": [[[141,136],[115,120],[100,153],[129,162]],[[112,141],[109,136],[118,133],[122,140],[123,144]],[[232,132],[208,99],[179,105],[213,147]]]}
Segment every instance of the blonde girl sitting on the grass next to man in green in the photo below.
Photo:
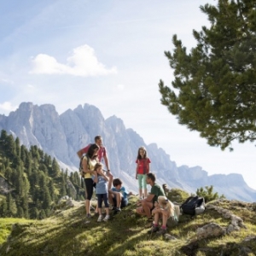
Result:
{"label": "blonde girl sitting on the grass next to man in green", "polygon": [[[174,214],[174,205],[166,196],[160,195],[157,201],[154,202],[154,225],[149,230],[149,233],[156,232],[157,235],[166,234],[166,224],[168,218],[176,218]],[[159,218],[162,218],[162,227],[159,229]],[[158,231],[158,232],[157,232]]]}

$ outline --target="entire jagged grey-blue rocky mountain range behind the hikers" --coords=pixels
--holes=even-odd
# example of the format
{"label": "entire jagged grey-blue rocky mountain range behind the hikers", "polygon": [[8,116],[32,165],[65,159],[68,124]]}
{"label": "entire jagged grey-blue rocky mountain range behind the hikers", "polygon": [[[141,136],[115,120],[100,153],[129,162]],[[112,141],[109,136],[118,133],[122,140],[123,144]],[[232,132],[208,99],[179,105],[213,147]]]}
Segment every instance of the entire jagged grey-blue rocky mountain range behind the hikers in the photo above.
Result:
{"label": "entire jagged grey-blue rocky mountain range behind the hikers", "polygon": [[114,177],[137,193],[135,170],[137,150],[147,148],[151,160],[151,172],[156,173],[158,183],[167,183],[170,188],[180,188],[195,193],[196,189],[213,185],[218,194],[230,199],[256,201],[256,191],[247,187],[239,174],[208,176],[200,166],[177,167],[170,155],[155,143],[146,145],[143,137],[126,129],[122,119],[116,116],[104,119],[100,110],[89,104],[74,110],[68,109],[59,115],[50,104],[33,105],[23,102],[9,116],[0,115],[0,128],[20,138],[27,148],[37,145],[47,154],[76,170],[79,166],[77,151],[94,137],[101,135],[108,149],[110,169]]}

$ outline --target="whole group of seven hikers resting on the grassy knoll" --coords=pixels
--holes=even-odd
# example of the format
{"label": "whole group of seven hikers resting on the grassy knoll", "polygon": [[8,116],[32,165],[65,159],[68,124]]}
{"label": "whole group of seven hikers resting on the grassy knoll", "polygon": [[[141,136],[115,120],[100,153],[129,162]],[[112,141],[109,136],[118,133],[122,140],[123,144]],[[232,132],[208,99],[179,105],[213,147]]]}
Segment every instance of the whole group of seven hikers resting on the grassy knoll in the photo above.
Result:
{"label": "whole group of seven hikers resting on the grassy knoll", "polygon": [[[93,195],[93,188],[96,188],[97,207],[99,213],[98,222],[108,221],[109,203],[115,213],[120,212],[122,207],[128,205],[128,192],[119,178],[113,179],[110,172],[109,160],[106,148],[102,145],[102,137],[96,136],[95,143],[89,144],[77,153],[82,159],[85,183],[85,211],[87,218],[91,218],[90,201]],[[85,157],[84,157],[85,154]],[[102,160],[105,162],[107,171],[103,170]],[[138,148],[136,179],[138,180],[139,200],[137,201],[137,214],[146,216],[149,221],[154,221],[150,232],[158,234],[166,233],[166,223],[168,218],[175,218],[174,205],[166,198],[164,190],[155,183],[155,175],[150,172],[150,159],[145,147]],[[113,184],[113,187],[112,187]],[[151,186],[148,193],[147,185]],[[102,201],[104,201],[106,216],[102,218]],[[152,217],[154,215],[154,218]],[[159,220],[162,218],[161,227]]]}

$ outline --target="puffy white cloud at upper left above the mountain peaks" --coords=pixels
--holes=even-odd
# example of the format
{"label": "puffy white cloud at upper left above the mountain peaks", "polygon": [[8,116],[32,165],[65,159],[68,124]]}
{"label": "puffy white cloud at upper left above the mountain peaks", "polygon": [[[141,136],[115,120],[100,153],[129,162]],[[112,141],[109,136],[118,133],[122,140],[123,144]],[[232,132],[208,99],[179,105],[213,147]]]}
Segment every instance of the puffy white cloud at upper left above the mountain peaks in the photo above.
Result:
{"label": "puffy white cloud at upper left above the mountain peaks", "polygon": [[84,44],[73,49],[73,55],[67,58],[67,64],[61,64],[55,57],[39,54],[32,58],[30,73],[69,74],[80,77],[108,75],[117,73],[117,68],[106,68],[96,58],[95,51]]}

